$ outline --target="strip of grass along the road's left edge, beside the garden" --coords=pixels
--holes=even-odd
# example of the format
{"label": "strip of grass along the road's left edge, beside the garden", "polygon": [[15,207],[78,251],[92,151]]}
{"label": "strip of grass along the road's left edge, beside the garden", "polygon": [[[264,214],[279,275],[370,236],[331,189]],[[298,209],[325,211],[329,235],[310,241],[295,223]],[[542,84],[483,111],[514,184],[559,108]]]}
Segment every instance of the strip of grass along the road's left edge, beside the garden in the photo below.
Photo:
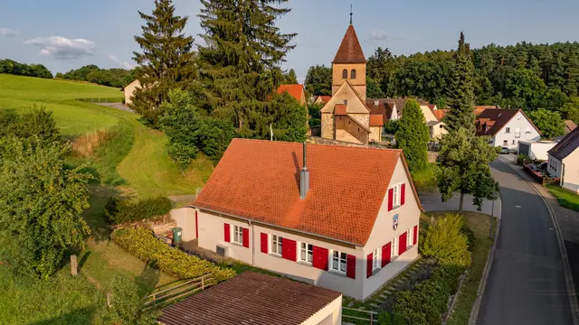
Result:
{"label": "strip of grass along the road's left edge, beside the garden", "polygon": [[[443,215],[445,212],[429,212],[423,215],[422,220]],[[451,212],[455,213],[455,212]],[[489,238],[490,218],[488,215],[478,212],[464,212],[466,218],[466,225],[474,232],[476,241],[472,251],[472,262],[469,267],[469,274],[462,283],[462,288],[459,292],[459,297],[452,311],[451,317],[447,321],[449,325],[468,324],[470,318],[470,311],[477,300],[479,292],[479,283],[482,279],[487,257],[489,256],[490,248],[492,247],[492,239]],[[421,220],[421,228],[422,228]],[[496,230],[496,218],[493,219],[493,233]]]}

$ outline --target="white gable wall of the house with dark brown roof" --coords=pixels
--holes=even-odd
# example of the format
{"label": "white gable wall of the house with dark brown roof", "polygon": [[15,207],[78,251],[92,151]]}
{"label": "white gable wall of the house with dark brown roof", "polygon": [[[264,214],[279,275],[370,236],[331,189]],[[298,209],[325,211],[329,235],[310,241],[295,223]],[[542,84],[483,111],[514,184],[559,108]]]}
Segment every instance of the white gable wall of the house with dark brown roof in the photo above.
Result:
{"label": "white gable wall of the house with dark brown roof", "polygon": [[520,141],[537,141],[541,135],[521,111],[518,111],[506,125],[491,139],[492,145],[517,149]]}

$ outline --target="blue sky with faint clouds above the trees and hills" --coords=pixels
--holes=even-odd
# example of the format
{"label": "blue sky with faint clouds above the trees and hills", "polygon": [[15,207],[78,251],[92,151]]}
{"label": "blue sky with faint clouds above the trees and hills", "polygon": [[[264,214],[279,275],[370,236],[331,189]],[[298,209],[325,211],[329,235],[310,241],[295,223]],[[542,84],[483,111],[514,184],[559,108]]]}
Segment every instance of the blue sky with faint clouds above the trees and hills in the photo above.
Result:
{"label": "blue sky with faint clouds above the trees and hills", "polygon": [[[185,33],[195,37],[201,4],[174,0],[176,14],[189,16]],[[579,41],[577,0],[289,0],[281,32],[297,32],[283,69],[303,81],[308,68],[330,65],[349,23],[366,59],[375,48],[394,55],[451,50],[465,32],[473,48],[489,43]],[[153,0],[0,0],[0,59],[42,63],[52,73],[96,64],[131,68],[134,36],[150,14]]]}

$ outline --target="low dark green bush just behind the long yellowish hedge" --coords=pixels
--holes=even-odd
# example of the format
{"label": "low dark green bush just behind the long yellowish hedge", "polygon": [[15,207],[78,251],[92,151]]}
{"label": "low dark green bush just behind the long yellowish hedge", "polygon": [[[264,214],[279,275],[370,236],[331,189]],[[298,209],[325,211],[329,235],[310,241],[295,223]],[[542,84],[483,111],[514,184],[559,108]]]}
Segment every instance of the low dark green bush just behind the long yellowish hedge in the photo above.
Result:
{"label": "low dark green bush just behind the long yellowish hedge", "polygon": [[105,205],[105,216],[113,225],[146,220],[167,214],[173,208],[171,200],[157,197],[138,202],[109,198]]}

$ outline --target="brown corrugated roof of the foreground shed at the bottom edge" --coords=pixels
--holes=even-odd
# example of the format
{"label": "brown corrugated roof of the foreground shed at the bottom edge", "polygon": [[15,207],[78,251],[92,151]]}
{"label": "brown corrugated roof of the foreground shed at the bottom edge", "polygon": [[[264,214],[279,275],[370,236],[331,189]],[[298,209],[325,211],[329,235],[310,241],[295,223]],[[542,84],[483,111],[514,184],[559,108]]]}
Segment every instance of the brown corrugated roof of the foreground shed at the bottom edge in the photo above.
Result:
{"label": "brown corrugated roof of the foreground shed at the bottom edge", "polygon": [[163,309],[165,325],[293,325],[308,320],[342,293],[252,271]]}

